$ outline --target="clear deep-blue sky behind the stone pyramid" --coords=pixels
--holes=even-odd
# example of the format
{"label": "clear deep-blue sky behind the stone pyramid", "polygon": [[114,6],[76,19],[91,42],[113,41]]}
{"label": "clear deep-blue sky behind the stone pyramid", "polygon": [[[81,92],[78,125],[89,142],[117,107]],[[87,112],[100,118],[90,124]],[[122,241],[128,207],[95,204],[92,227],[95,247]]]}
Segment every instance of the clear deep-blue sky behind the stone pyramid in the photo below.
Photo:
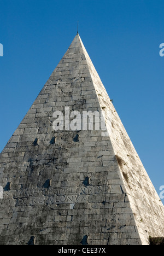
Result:
{"label": "clear deep-blue sky behind the stone pyramid", "polygon": [[163,10],[163,0],[0,0],[0,152],[65,54],[79,21],[85,48],[160,193]]}

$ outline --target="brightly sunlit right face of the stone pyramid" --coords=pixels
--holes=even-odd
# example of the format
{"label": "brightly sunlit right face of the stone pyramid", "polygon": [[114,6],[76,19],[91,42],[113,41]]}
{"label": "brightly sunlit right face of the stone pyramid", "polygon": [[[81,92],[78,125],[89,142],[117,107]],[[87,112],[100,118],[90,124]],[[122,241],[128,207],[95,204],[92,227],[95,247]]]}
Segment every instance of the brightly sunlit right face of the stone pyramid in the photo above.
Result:
{"label": "brightly sunlit right face of the stone pyramid", "polygon": [[110,113],[110,122],[106,120],[110,140],[140,237],[145,243],[144,241],[148,241],[149,236],[159,237],[164,235],[163,204],[85,49],[84,52],[99,104],[103,108],[106,117]]}

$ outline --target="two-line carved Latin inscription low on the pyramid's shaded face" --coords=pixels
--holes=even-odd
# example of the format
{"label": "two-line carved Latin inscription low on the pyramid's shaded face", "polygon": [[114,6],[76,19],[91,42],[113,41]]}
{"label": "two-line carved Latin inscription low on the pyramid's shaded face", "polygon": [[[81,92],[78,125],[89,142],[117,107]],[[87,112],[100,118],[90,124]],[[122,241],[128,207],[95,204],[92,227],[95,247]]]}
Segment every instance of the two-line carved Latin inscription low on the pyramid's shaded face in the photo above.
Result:
{"label": "two-line carved Latin inscription low on the pyramid's shaded face", "polygon": [[102,202],[110,186],[63,187],[13,191],[15,206],[58,205],[62,203]]}

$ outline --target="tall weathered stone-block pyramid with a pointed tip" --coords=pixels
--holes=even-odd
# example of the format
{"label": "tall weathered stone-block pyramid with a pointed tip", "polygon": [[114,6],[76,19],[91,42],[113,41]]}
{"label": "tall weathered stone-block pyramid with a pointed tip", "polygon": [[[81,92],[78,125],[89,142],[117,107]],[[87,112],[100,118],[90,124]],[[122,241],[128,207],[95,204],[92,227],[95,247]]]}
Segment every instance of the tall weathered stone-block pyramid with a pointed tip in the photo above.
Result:
{"label": "tall weathered stone-block pyramid with a pointed tip", "polygon": [[0,185],[1,245],[164,236],[162,202],[79,34],[3,149]]}

